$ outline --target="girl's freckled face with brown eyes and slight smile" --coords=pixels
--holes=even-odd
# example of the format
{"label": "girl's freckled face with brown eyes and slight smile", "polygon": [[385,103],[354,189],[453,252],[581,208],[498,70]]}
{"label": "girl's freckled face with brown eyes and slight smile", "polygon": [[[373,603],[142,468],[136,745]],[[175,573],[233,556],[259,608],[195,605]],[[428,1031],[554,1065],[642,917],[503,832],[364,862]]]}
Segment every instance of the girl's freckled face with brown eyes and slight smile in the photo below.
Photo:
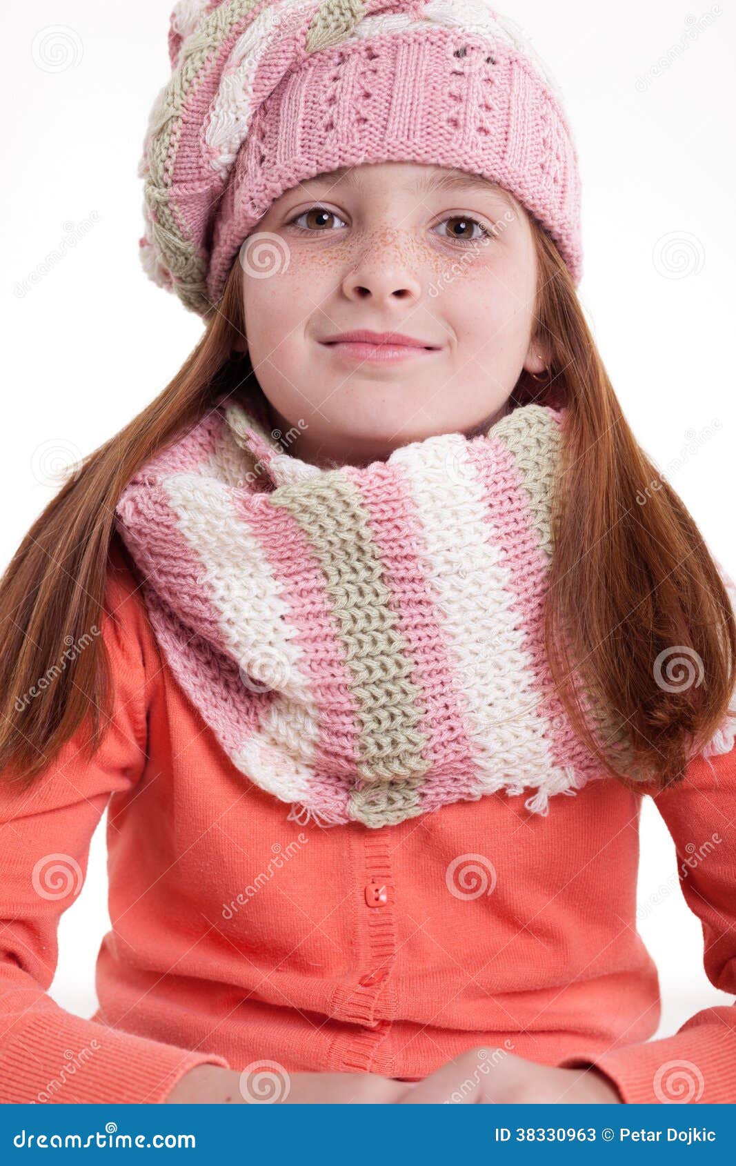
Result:
{"label": "girl's freckled face with brown eyes and slight smile", "polygon": [[[531,344],[537,264],[525,210],[443,167],[343,167],[286,191],[240,248],[247,347],[295,454],[365,464],[506,412]],[[400,332],[422,347],[330,343]],[[426,345],[427,347],[425,347]],[[395,350],[394,350],[395,353]]]}

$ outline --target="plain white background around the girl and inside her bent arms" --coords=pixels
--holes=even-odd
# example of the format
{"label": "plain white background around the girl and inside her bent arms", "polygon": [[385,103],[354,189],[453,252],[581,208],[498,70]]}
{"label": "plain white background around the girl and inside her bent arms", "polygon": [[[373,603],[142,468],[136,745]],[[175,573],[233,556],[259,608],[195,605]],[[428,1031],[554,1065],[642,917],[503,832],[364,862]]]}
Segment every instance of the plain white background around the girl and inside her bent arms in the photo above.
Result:
{"label": "plain white background around the girl and inside her bent arms", "polygon": [[[118,431],[202,331],[138,258],[136,167],[169,75],[170,8],[35,0],[3,12],[2,568],[58,489],[49,451],[73,461]],[[565,96],[583,183],[580,296],[614,387],[736,576],[734,5],[525,0],[502,10]],[[714,420],[716,435],[701,441]],[[670,835],[645,800],[639,930],[660,970],[657,1035],[731,1003],[705,976],[701,927],[674,871]],[[103,821],[85,886],[62,920],[51,990],[80,1016],[96,1007],[94,960],[108,927]]]}

